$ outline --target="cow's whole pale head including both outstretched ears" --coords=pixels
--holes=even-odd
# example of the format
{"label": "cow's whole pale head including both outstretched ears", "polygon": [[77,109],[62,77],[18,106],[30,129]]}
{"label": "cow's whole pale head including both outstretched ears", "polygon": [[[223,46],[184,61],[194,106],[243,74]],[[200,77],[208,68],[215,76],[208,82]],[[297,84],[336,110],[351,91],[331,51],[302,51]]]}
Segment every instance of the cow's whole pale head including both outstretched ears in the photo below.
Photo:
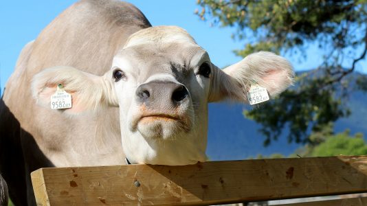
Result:
{"label": "cow's whole pale head including both outstretched ears", "polygon": [[257,82],[270,96],[291,84],[289,62],[270,52],[252,54],[226,69],[179,27],[149,27],[131,35],[104,76],[72,67],[38,73],[32,90],[48,106],[58,84],[72,95],[65,113],[120,107],[122,147],[133,163],[186,165],[205,161],[208,102],[247,102]]}

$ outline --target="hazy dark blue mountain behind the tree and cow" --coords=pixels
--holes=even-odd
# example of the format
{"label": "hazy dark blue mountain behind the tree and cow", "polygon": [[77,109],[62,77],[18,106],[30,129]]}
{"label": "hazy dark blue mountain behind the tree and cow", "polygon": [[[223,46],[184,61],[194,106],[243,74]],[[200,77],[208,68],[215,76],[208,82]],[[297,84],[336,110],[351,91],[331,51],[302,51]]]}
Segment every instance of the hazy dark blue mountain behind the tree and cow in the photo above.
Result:
{"label": "hazy dark blue mountain behind the tree and cow", "polygon": [[[335,133],[351,130],[351,134],[363,133],[367,139],[367,93],[353,92],[348,99],[351,115],[335,122]],[[243,104],[209,104],[209,129],[207,154],[211,160],[246,159],[258,154],[281,153],[289,155],[302,146],[288,144],[285,135],[278,141],[263,146],[265,137],[258,132],[260,124],[245,119]]]}

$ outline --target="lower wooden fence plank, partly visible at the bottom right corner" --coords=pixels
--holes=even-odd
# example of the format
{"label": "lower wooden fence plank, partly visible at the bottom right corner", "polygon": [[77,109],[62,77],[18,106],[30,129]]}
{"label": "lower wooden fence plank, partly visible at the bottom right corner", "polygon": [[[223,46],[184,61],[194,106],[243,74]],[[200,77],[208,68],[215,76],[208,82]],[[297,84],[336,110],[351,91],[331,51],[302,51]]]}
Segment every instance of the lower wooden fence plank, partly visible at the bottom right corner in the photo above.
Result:
{"label": "lower wooden fence plank, partly visible at the bottom right corner", "polygon": [[344,198],[330,201],[314,201],[308,203],[292,203],[292,204],[283,204],[283,205],[274,205],[274,206],[335,206],[335,205],[343,205],[343,206],[366,206],[367,205],[367,197],[358,197],[358,198]]}

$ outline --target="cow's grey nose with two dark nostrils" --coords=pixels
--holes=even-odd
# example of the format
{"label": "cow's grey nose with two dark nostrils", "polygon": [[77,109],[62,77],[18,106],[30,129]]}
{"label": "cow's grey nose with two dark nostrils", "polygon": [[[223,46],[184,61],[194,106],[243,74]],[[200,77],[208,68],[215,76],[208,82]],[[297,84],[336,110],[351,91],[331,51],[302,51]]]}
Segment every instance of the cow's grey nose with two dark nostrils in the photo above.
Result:
{"label": "cow's grey nose with two dark nostrils", "polygon": [[175,82],[148,82],[137,87],[136,96],[144,103],[170,101],[177,104],[188,98],[188,89]]}

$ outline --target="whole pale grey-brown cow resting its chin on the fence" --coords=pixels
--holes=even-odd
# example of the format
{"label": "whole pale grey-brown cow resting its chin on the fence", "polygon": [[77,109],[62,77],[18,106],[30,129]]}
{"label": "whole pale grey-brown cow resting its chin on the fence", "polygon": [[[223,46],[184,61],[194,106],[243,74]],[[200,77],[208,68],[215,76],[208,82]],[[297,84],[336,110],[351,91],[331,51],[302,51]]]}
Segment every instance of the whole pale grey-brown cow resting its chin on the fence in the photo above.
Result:
{"label": "whole pale grey-brown cow resting its chin on the fence", "polygon": [[[209,102],[247,103],[253,84],[274,97],[292,78],[271,52],[219,69],[180,27],[152,27],[130,3],[79,1],[21,51],[0,104],[0,173],[16,205],[35,205],[38,168],[207,161]],[[71,108],[51,108],[58,91]]]}

